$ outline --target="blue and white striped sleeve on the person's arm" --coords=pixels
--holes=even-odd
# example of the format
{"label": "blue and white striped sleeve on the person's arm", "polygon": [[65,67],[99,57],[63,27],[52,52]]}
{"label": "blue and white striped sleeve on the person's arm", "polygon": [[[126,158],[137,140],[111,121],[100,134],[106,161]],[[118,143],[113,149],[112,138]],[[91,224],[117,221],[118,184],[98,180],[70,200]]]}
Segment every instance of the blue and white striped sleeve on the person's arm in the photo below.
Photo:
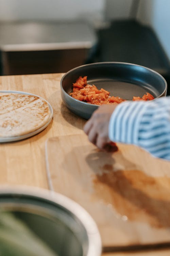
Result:
{"label": "blue and white striped sleeve on the person's arm", "polygon": [[170,97],[119,104],[109,122],[109,139],[170,160]]}

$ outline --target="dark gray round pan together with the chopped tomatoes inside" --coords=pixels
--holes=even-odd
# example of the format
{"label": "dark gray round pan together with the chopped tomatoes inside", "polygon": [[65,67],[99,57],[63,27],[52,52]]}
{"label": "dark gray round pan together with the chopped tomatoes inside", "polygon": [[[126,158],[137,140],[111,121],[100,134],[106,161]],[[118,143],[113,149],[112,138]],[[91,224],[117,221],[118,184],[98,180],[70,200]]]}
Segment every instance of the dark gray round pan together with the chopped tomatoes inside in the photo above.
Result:
{"label": "dark gray round pan together with the chopped tomatoes inside", "polygon": [[63,103],[89,119],[102,104],[166,96],[167,82],[152,69],[125,62],[98,62],[74,68],[61,79]]}

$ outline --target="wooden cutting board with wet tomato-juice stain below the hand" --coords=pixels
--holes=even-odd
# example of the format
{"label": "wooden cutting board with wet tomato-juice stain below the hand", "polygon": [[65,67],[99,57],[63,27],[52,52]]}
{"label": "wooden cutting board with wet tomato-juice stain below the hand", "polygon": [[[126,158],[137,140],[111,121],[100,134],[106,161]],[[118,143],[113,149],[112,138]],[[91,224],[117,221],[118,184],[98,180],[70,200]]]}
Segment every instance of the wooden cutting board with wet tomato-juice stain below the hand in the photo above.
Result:
{"label": "wooden cutting board with wet tomato-juice stain below the hand", "polygon": [[99,151],[85,134],[46,142],[50,188],[84,207],[103,246],[170,241],[170,161],[133,145]]}

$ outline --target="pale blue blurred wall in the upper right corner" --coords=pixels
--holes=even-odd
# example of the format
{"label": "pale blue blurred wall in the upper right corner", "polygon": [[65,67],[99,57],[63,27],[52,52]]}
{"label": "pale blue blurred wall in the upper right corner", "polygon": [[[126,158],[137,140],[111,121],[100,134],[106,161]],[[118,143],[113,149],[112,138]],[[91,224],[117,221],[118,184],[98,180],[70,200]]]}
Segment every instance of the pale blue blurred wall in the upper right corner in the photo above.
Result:
{"label": "pale blue blurred wall in the upper right corner", "polygon": [[137,19],[154,29],[170,61],[170,0],[140,0]]}

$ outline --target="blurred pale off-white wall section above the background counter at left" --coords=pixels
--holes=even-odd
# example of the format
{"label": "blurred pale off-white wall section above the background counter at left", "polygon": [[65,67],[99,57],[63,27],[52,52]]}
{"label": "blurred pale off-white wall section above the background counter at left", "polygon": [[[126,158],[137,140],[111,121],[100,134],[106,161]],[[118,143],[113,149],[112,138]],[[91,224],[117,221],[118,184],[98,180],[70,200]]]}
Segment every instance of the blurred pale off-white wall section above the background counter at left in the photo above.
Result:
{"label": "blurred pale off-white wall section above the background counter at left", "polygon": [[0,21],[103,19],[104,0],[0,0]]}

